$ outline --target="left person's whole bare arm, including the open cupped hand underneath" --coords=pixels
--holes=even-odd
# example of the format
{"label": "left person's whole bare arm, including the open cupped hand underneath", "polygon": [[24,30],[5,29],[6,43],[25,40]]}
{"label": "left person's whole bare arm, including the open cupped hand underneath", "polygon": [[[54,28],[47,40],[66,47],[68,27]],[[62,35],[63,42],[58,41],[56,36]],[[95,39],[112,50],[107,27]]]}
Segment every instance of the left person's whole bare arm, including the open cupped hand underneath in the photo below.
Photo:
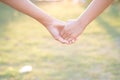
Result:
{"label": "left person's whole bare arm, including the open cupped hand underneath", "polygon": [[24,14],[27,14],[28,16],[33,17],[41,24],[43,24],[57,41],[60,41],[61,43],[67,43],[67,41],[60,36],[60,32],[64,28],[65,23],[46,14],[44,11],[42,11],[40,8],[34,5],[31,1],[29,0],[0,0],[0,1]]}

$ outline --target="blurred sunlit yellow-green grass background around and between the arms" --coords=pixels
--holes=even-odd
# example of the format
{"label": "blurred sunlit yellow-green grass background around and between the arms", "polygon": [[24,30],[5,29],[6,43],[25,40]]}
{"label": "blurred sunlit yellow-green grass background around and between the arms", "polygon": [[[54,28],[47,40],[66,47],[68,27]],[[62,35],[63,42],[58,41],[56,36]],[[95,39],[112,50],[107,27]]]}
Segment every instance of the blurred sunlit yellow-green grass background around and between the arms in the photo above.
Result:
{"label": "blurred sunlit yellow-green grass background around and between the arms", "polygon": [[[34,1],[67,21],[88,5]],[[20,74],[31,65],[33,70]],[[114,2],[72,45],[55,41],[36,20],[0,3],[0,80],[120,80],[120,5]]]}

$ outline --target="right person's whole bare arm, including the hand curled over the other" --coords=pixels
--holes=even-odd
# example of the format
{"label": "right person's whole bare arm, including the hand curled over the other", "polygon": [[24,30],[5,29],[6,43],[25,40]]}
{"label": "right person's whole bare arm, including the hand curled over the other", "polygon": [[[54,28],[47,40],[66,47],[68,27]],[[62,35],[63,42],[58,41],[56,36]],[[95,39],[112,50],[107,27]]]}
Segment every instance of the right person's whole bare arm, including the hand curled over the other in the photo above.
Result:
{"label": "right person's whole bare arm, including the hand curled over the other", "polygon": [[63,39],[71,44],[84,31],[86,26],[99,16],[114,0],[93,0],[78,19],[68,21],[61,31]]}

